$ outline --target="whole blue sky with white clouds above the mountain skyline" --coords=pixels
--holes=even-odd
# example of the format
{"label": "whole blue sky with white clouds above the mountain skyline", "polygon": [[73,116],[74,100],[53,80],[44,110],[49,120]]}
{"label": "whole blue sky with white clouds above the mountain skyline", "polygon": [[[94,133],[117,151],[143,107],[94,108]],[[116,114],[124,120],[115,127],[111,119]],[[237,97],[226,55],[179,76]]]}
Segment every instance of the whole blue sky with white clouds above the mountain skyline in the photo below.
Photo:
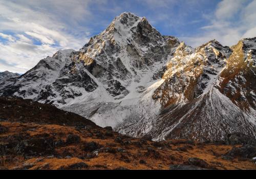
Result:
{"label": "whole blue sky with white clouds above the mountain skyline", "polygon": [[25,73],[59,49],[81,48],[122,12],[145,16],[192,47],[256,36],[256,0],[0,0],[0,72]]}

